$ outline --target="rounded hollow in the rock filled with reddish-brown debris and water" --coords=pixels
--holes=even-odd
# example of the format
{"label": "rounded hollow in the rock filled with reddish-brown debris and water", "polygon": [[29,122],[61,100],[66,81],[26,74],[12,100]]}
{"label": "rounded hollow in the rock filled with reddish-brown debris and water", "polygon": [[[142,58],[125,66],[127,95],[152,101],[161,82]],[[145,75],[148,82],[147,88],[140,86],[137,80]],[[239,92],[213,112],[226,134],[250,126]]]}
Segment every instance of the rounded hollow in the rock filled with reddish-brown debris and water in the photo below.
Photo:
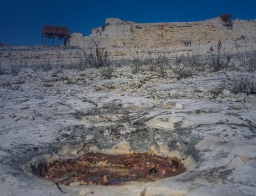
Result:
{"label": "rounded hollow in the rock filled with reddish-brown debris and water", "polygon": [[121,185],[124,182],[149,182],[177,176],[186,171],[178,158],[152,153],[107,155],[88,153],[77,159],[58,159],[32,167],[42,178],[63,185]]}

